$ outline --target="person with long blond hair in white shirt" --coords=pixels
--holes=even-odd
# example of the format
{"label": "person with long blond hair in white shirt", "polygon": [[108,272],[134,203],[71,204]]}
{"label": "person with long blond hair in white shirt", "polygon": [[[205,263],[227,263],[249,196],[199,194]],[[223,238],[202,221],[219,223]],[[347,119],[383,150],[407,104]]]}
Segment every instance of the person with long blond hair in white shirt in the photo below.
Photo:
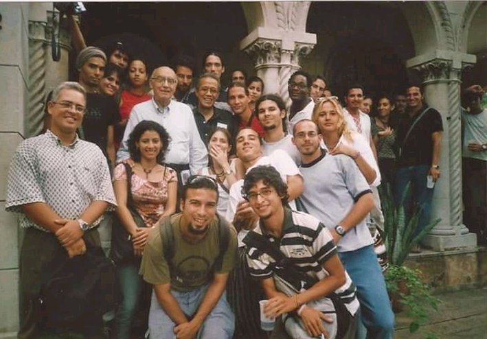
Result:
{"label": "person with long blond hair in white shirt", "polygon": [[312,120],[317,124],[323,137],[322,146],[329,154],[350,156],[369,185],[381,183],[381,174],[369,143],[359,132],[348,128],[343,109],[335,97],[320,97],[315,104]]}

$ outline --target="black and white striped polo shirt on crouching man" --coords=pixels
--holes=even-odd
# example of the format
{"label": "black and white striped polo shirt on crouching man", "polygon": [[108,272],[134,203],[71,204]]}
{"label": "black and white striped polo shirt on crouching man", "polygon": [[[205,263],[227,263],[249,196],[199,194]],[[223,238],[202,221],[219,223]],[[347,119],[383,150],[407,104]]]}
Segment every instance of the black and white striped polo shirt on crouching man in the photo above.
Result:
{"label": "black and white striped polo shirt on crouching man", "polygon": [[[273,244],[279,246],[281,252],[299,270],[305,272],[310,277],[321,280],[328,277],[328,272],[323,268],[326,262],[333,255],[337,255],[337,246],[333,243],[332,235],[326,227],[307,213],[284,209],[284,224],[282,237],[275,238],[269,234],[262,224],[253,229],[260,235],[267,237]],[[247,246],[247,264],[252,277],[257,279],[267,279],[273,277],[277,266],[275,260],[258,248],[258,244],[253,244],[250,237],[243,240]],[[337,294],[345,303],[350,314],[355,314],[359,309],[359,301],[356,299],[356,288],[352,279],[346,274],[346,282],[337,290]],[[304,286],[304,281],[302,286]],[[302,292],[304,288],[302,288]]]}

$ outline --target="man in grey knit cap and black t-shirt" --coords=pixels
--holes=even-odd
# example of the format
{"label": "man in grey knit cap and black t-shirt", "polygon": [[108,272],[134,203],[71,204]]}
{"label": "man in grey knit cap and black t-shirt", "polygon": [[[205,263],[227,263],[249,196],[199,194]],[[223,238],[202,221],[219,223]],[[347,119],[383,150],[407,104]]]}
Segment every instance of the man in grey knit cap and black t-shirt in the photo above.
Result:
{"label": "man in grey knit cap and black t-shirt", "polygon": [[115,165],[114,126],[118,119],[118,107],[113,98],[99,93],[98,84],[103,77],[106,56],[101,49],[86,47],[76,58],[81,86],[87,92],[87,109],[78,130],[81,139],[96,143]]}

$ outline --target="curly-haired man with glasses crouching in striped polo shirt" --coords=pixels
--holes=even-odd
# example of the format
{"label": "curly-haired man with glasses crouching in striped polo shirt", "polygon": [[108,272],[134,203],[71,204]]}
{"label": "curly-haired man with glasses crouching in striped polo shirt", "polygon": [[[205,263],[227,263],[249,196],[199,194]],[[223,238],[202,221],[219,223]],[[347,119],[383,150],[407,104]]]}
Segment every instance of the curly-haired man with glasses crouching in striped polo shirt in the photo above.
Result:
{"label": "curly-haired man with glasses crouching in striped polo shirt", "polygon": [[317,218],[289,209],[286,192],[272,166],[251,169],[242,187],[260,218],[243,239],[250,274],[269,299],[264,313],[284,315],[271,338],[354,338],[359,301],[332,235]]}

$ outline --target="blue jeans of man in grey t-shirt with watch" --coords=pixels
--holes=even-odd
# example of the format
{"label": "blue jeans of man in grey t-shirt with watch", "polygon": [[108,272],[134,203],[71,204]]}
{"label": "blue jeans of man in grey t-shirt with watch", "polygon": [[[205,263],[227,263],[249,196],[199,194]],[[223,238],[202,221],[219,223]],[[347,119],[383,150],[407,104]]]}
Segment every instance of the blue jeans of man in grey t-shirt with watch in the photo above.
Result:
{"label": "blue jeans of man in grey t-shirt with watch", "polygon": [[[367,329],[367,338],[391,339],[394,334],[394,313],[374,246],[341,252],[339,257],[356,285],[361,320]],[[357,338],[365,338],[365,334]]]}

